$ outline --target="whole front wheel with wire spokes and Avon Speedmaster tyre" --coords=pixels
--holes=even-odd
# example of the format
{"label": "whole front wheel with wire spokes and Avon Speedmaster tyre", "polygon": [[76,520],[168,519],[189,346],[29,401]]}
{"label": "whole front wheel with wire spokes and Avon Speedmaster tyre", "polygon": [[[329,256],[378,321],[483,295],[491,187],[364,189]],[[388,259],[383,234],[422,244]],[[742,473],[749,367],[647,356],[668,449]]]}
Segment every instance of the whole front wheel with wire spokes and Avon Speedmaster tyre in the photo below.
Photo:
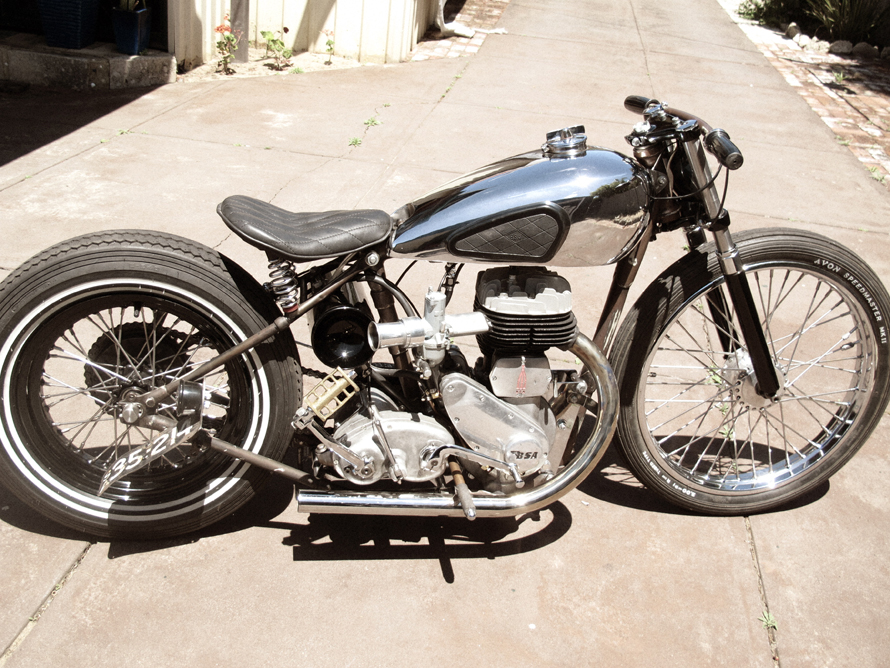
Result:
{"label": "whole front wheel with wire spokes and Avon Speedmaster tyre", "polygon": [[890,299],[849,250],[794,230],[735,238],[780,382],[761,397],[713,246],[667,269],[615,341],[621,449],[650,489],[709,514],[760,512],[824,482],[890,393]]}

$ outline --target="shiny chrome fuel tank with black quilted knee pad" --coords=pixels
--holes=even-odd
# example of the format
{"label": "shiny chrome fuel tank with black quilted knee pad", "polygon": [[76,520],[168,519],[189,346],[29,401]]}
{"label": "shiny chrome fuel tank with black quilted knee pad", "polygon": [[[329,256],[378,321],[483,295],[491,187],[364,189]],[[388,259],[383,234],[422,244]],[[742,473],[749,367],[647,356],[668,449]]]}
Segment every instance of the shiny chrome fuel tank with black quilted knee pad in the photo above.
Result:
{"label": "shiny chrome fuel tank with black quilted knee pad", "polygon": [[392,252],[451,262],[610,264],[646,228],[649,192],[645,168],[627,156],[586,144],[555,153],[548,143],[403,207]]}

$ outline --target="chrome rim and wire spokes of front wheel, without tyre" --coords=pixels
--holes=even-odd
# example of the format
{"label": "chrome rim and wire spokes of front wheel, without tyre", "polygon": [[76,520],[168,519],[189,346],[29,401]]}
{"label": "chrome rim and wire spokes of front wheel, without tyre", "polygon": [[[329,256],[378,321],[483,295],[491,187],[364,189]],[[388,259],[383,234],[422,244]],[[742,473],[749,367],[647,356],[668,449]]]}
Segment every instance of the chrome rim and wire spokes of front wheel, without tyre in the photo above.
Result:
{"label": "chrome rim and wire spokes of front wheel, without tyre", "polygon": [[788,264],[747,275],[782,385],[777,397],[756,394],[737,327],[718,324],[706,299],[720,291],[730,304],[722,277],[681,305],[644,367],[637,407],[648,454],[678,489],[744,494],[787,484],[831,458],[872,391],[876,342],[847,286]]}

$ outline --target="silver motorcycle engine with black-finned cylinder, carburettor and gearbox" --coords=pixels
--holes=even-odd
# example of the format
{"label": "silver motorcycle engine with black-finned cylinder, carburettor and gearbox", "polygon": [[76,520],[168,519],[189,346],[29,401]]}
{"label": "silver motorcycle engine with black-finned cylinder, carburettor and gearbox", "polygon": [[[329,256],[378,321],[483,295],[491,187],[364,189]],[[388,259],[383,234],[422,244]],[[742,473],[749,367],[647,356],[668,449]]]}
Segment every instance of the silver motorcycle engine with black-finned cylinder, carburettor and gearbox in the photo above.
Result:
{"label": "silver motorcycle engine with black-finned cylinder, carburettor and gearbox", "polygon": [[[430,410],[406,411],[371,383],[351,404],[352,415],[328,436],[303,409],[302,426],[322,442],[318,461],[338,477],[356,485],[436,481],[455,457],[486,489],[509,491],[556,471],[562,450],[556,461],[551,457],[560,425],[551,408],[556,383],[545,352],[570,346],[577,335],[568,281],[539,267],[501,267],[479,273],[472,313],[447,314],[446,301],[444,292],[430,290],[422,318],[368,326],[371,349],[412,350]],[[483,357],[470,371],[452,340],[473,335]],[[370,373],[373,379],[379,372]],[[310,393],[307,406],[322,421],[329,418],[332,397],[340,407],[362,392],[355,375],[338,369],[318,396]]]}

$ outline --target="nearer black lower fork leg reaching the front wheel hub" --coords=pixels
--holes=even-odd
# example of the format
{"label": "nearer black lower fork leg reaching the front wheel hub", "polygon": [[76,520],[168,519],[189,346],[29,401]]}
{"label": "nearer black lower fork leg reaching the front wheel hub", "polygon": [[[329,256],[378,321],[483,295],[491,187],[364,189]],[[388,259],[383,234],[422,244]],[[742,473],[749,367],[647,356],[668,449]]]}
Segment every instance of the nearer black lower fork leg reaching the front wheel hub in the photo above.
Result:
{"label": "nearer black lower fork leg reaching the front wheel hub", "polygon": [[[725,222],[723,222],[724,217]],[[757,393],[762,397],[774,397],[779,391],[779,379],[776,376],[776,367],[773,365],[763,327],[760,326],[757,317],[751,286],[748,285],[748,278],[739,260],[738,248],[729,234],[729,214],[724,211],[720,221],[711,227],[711,232],[717,244],[717,258],[726,278],[729,298],[735,308],[739,329],[748,347],[748,355],[751,356],[751,365],[757,378]]]}

